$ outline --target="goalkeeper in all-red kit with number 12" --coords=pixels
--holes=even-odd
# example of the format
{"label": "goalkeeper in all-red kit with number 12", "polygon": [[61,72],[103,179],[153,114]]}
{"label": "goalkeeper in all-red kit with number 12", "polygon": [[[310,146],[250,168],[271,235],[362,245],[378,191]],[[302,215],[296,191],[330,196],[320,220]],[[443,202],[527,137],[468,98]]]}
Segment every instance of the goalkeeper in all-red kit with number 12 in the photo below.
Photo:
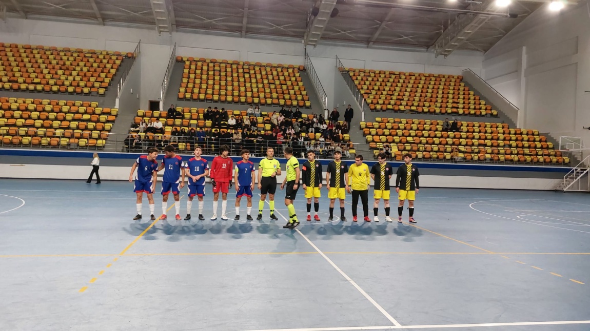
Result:
{"label": "goalkeeper in all-red kit with number 12", "polygon": [[219,147],[219,156],[216,156],[211,163],[211,184],[213,184],[213,216],[211,220],[217,220],[217,200],[221,191],[221,219],[227,221],[225,209],[227,208],[227,193],[231,186],[231,178],[234,171],[234,161],[228,155],[230,148],[227,145]]}

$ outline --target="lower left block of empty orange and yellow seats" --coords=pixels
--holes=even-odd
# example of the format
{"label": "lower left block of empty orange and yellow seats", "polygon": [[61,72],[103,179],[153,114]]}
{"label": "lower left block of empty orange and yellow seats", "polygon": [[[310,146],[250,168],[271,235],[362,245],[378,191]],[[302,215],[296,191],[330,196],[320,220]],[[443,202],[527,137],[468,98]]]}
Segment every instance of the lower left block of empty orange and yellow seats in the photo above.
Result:
{"label": "lower left block of empty orange and yellow seats", "polygon": [[3,147],[102,148],[119,110],[98,102],[0,97]]}

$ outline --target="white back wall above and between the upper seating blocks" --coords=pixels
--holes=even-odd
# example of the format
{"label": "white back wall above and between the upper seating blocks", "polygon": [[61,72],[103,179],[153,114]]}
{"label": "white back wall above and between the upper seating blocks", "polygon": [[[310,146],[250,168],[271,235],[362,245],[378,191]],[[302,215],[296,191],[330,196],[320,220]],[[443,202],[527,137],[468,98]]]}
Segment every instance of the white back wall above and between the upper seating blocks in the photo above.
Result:
{"label": "white back wall above and between the upper seating blocks", "polygon": [[[177,45],[177,54],[183,56],[296,65],[304,63],[304,48],[300,41],[219,37],[186,32],[158,36],[154,28],[103,27],[15,18],[8,18],[6,23],[0,22],[2,42],[128,52],[133,51],[140,39],[143,57],[142,108],[148,107],[148,100],[158,100],[160,96],[160,85],[174,43]],[[435,58],[432,52],[329,44],[320,44],[315,49],[308,49],[308,52],[328,94],[329,108],[333,107],[336,55],[342,59],[346,67],[441,74],[461,74],[464,68],[471,68],[477,74],[481,74],[483,60],[483,54],[479,52],[457,51],[444,59]]]}

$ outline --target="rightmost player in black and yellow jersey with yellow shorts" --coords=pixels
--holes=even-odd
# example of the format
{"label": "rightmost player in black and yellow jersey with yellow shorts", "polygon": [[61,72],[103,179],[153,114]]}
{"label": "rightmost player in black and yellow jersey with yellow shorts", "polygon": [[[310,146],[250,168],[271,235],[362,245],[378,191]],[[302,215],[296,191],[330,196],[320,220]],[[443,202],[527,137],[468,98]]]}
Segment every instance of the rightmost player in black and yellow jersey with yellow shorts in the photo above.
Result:
{"label": "rightmost player in black and yellow jersey with yellow shorts", "polygon": [[398,173],[395,178],[395,191],[398,193],[398,222],[402,223],[402,211],[404,211],[404,202],[408,199],[409,222],[417,223],[414,220],[414,200],[418,189],[420,188],[420,181],[418,180],[418,167],[412,164],[412,154],[404,154],[404,162],[398,168]]}

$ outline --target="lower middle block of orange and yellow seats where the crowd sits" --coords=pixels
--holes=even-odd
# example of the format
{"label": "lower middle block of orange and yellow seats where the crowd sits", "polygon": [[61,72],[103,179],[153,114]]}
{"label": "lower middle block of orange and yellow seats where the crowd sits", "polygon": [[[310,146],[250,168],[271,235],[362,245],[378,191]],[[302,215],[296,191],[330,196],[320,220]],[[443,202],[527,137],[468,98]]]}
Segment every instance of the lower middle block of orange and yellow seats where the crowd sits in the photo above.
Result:
{"label": "lower middle block of orange and yellow seats where the crowd sits", "polygon": [[[272,117],[272,112],[266,111],[261,112],[260,117],[249,116],[245,110],[225,110],[227,114],[225,116],[222,115],[221,110],[215,113],[208,112],[204,108],[176,107],[176,112],[179,114],[176,118],[168,118],[167,111],[138,110],[132,131],[126,140],[126,149],[138,151],[173,144],[180,151],[191,151],[195,144],[198,144],[204,147],[205,153],[215,154],[220,144],[228,144],[235,153],[242,148],[248,148],[253,154],[265,155],[266,147],[271,146],[277,150],[276,155],[280,155],[282,150],[280,147],[290,145],[298,156],[309,148],[326,155],[331,155],[334,148],[340,148],[345,154],[346,151],[352,155],[355,153],[353,145],[350,144],[348,128],[340,128],[344,124],[343,121],[340,121],[339,126],[333,131],[326,129],[333,132],[330,135],[333,144],[329,144],[327,140],[320,141],[320,130],[312,130],[315,133],[310,133],[309,129],[314,125],[314,116],[311,114],[296,114],[292,119],[287,116],[281,123],[280,119]],[[278,113],[277,111],[276,116]],[[215,120],[217,115],[219,120]],[[228,119],[232,116],[236,120],[235,125],[228,124]],[[318,118],[319,121],[322,119],[323,116]],[[162,130],[160,133],[148,133],[148,128],[137,127],[142,120],[146,123],[155,123],[158,120],[162,123]],[[250,125],[245,125],[245,121]],[[329,124],[328,121],[326,121],[327,124]],[[287,128],[293,128],[294,132],[292,135],[285,134],[283,144],[278,144],[277,135],[273,135],[274,128],[278,128],[281,134]],[[203,129],[202,133],[198,134],[201,129]],[[240,141],[233,136],[234,129],[240,133]],[[338,129],[340,130],[337,131]],[[298,137],[301,137],[303,142],[297,141]]]}

